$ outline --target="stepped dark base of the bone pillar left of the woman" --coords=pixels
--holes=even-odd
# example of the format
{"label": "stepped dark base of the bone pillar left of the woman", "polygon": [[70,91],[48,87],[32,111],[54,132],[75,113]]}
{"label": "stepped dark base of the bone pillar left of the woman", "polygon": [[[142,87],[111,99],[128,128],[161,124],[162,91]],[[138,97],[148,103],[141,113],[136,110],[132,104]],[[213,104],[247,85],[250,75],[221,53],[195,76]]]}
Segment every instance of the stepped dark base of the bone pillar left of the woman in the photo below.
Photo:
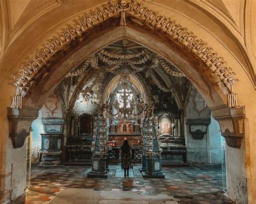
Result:
{"label": "stepped dark base of the bone pillar left of the woman", "polygon": [[87,178],[107,178],[106,158],[92,157],[92,171],[87,174]]}

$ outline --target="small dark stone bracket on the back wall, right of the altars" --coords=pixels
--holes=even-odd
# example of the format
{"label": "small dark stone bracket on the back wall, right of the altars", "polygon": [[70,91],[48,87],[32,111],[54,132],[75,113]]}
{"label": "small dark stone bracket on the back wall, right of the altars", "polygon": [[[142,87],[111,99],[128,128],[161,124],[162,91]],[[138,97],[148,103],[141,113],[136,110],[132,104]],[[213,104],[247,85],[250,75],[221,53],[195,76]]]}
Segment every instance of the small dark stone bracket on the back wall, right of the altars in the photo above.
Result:
{"label": "small dark stone bracket on the back wall, right of the altars", "polygon": [[186,123],[189,126],[189,131],[193,139],[203,139],[207,133],[211,119],[187,119]]}

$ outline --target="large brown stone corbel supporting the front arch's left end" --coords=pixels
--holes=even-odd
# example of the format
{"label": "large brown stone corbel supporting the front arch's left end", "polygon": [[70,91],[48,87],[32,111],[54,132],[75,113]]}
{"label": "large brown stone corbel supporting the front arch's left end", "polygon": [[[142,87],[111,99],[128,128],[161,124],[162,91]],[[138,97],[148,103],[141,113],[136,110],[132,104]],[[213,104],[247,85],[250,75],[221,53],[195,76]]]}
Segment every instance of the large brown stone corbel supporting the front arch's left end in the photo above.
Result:
{"label": "large brown stone corbel supporting the front arch's left end", "polygon": [[33,107],[8,108],[10,137],[15,149],[24,145],[26,137],[29,136],[31,123],[38,117],[38,110]]}

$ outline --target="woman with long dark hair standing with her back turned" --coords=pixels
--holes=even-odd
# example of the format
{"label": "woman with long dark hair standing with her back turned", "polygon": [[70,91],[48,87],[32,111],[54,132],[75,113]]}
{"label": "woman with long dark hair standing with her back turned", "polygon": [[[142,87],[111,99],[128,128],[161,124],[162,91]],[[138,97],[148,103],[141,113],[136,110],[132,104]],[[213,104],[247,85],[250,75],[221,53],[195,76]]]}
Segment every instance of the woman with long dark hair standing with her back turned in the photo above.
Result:
{"label": "woman with long dark hair standing with her back turned", "polygon": [[129,177],[129,168],[132,167],[132,149],[127,139],[124,140],[123,146],[120,147],[120,153],[121,167],[124,170],[124,177],[126,177],[126,175]]}

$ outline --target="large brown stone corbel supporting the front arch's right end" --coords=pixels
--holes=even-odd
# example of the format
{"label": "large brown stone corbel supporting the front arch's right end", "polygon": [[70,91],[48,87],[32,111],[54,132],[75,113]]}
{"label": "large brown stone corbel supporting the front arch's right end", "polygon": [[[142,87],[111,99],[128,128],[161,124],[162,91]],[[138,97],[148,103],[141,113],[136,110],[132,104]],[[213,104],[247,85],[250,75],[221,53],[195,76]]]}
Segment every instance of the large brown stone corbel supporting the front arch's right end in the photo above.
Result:
{"label": "large brown stone corbel supporting the front arch's right end", "polygon": [[244,136],[245,107],[216,107],[212,109],[212,115],[219,122],[227,145],[240,148]]}

